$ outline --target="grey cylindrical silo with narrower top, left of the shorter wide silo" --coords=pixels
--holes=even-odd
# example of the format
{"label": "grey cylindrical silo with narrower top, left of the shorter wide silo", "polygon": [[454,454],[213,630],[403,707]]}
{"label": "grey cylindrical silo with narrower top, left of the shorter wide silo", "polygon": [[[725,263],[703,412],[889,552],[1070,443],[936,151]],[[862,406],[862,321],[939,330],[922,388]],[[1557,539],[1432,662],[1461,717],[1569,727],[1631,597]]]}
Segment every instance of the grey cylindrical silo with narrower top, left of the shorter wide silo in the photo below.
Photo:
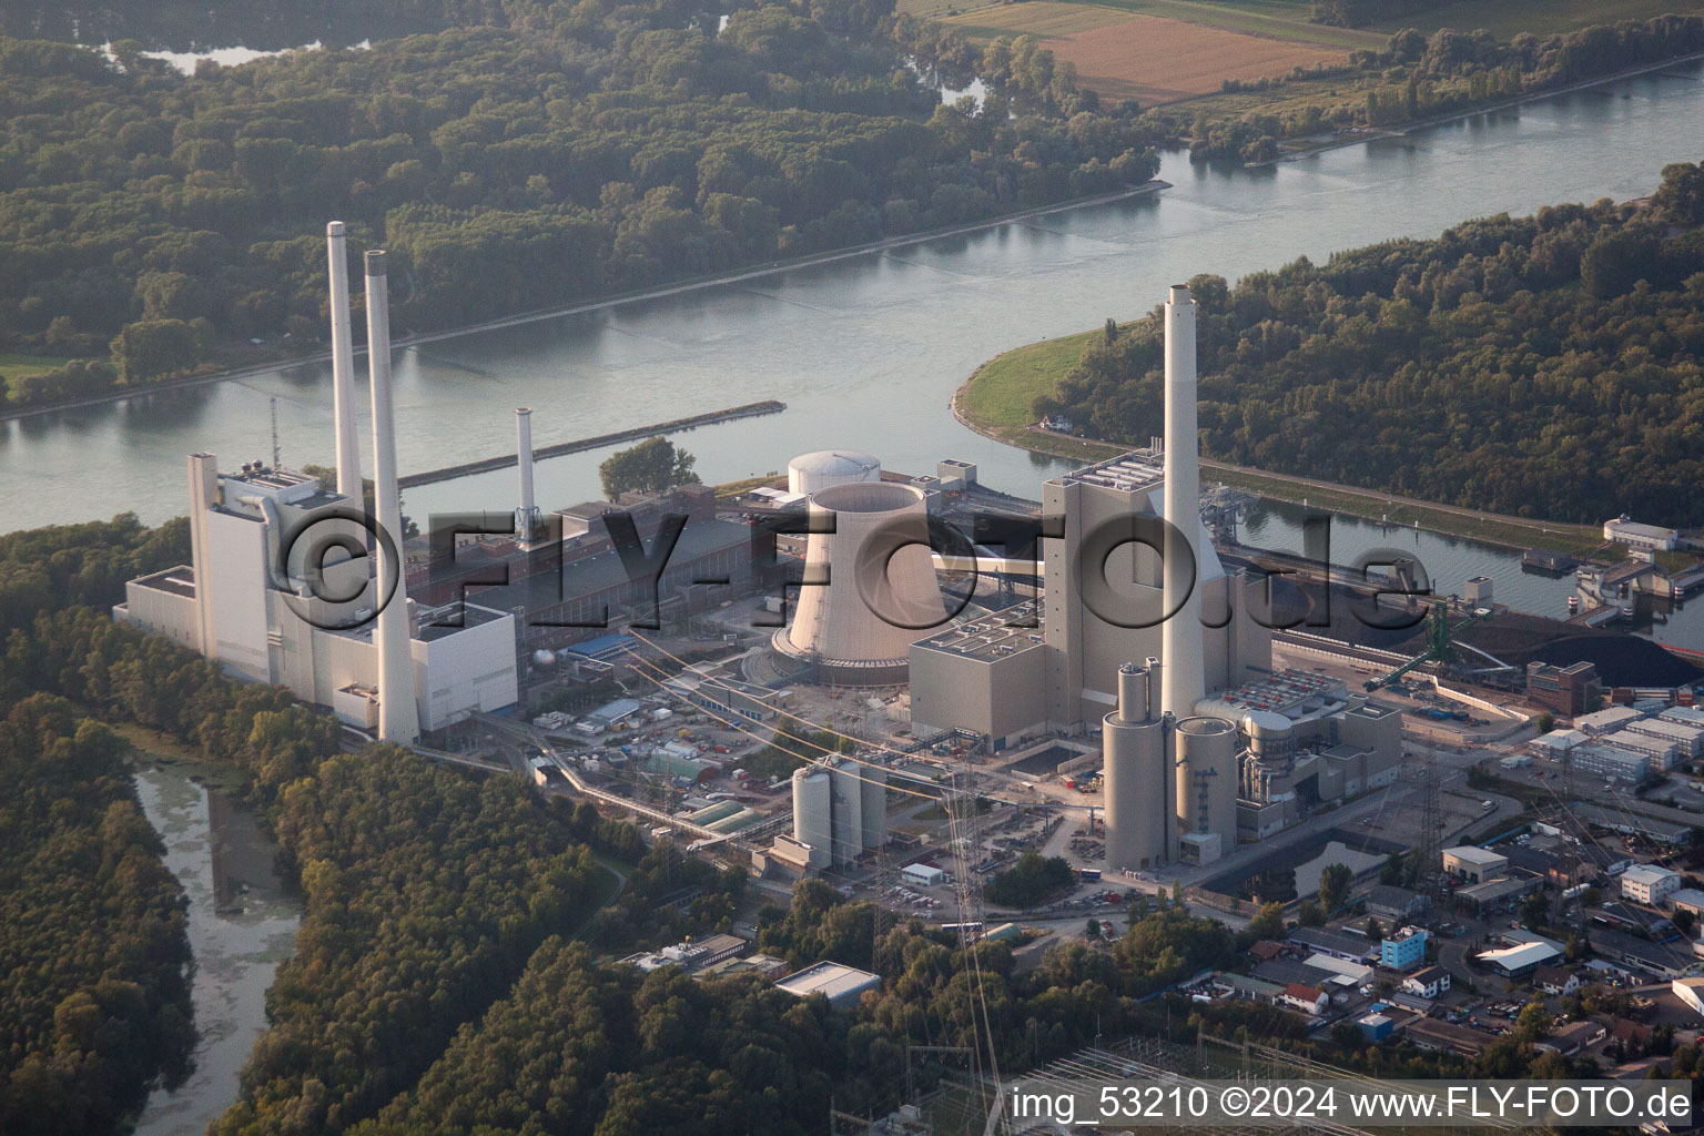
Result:
{"label": "grey cylindrical silo with narrower top, left of the shorter wide silo", "polygon": [[1155,712],[1159,666],[1118,671],[1118,710],[1101,731],[1106,789],[1106,867],[1145,870],[1171,860],[1174,807],[1166,760],[1166,722]]}

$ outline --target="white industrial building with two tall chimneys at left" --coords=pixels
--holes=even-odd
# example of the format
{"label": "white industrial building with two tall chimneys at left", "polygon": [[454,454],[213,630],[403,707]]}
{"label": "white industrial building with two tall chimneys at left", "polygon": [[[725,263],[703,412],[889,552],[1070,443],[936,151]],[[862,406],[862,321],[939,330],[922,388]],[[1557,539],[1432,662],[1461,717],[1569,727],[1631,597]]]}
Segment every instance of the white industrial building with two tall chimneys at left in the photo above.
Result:
{"label": "white industrial building with two tall chimneys at left", "polygon": [[[191,564],[130,581],[112,615],[232,674],[288,686],[348,726],[412,744],[421,731],[515,703],[515,617],[477,603],[417,605],[400,562],[392,562],[400,560],[390,538],[400,542],[402,516],[389,283],[378,250],[366,254],[366,312],[375,501],[387,538],[375,542],[348,519],[361,509],[361,470],[341,223],[327,228],[327,247],[337,491],[261,462],[222,473],[211,453],[191,455]],[[303,538],[310,531],[314,540]]]}

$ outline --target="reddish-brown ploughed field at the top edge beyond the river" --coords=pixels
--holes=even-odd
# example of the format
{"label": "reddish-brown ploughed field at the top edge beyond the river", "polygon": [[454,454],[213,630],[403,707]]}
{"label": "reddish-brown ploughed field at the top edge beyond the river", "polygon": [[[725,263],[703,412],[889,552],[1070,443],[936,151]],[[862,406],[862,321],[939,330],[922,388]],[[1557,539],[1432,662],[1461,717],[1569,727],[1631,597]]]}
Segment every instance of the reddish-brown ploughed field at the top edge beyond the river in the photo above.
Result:
{"label": "reddish-brown ploughed field at the top edge beyond the river", "polygon": [[1281,75],[1292,66],[1341,63],[1343,48],[1268,39],[1159,15],[1074,3],[1014,3],[944,20],[973,39],[1033,34],[1102,99],[1142,106],[1215,94],[1227,78]]}

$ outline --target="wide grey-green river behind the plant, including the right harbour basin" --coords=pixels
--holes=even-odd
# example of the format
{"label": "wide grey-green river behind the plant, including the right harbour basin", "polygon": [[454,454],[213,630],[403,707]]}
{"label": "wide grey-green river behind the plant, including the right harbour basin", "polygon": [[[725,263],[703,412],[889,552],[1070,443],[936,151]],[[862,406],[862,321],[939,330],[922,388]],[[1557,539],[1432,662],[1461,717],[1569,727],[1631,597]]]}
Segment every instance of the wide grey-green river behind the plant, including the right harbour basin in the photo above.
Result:
{"label": "wide grey-green river behind the plant, including the right harbour basin", "polygon": [[[1665,164],[1704,153],[1701,80],[1704,66],[1678,65],[1259,170],[1171,153],[1160,177],[1172,187],[1159,194],[404,349],[400,470],[511,451],[516,405],[533,407],[535,443],[549,445],[780,399],[782,416],[682,436],[700,477],[767,473],[804,450],[852,446],[898,470],[964,458],[985,482],[1033,497],[1065,463],[985,439],[947,409],[983,359],[1108,315],[1140,315],[1195,273],[1237,278],[1297,255],[1436,235],[1471,216],[1646,194]],[[0,530],[126,509],[150,523],[179,514],[186,453],[211,450],[227,465],[271,458],[274,399],[283,460],[329,462],[325,364],[3,424],[0,494],[10,509]],[[540,463],[540,502],[596,496],[605,456]],[[513,477],[424,485],[406,508],[508,509]],[[1259,533],[1268,543],[1298,543],[1283,511],[1269,518]],[[1566,581],[1520,577],[1506,550],[1421,540],[1445,591],[1484,572],[1500,601],[1563,613]],[[1658,637],[1704,645],[1704,605],[1694,608]]]}

